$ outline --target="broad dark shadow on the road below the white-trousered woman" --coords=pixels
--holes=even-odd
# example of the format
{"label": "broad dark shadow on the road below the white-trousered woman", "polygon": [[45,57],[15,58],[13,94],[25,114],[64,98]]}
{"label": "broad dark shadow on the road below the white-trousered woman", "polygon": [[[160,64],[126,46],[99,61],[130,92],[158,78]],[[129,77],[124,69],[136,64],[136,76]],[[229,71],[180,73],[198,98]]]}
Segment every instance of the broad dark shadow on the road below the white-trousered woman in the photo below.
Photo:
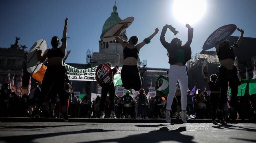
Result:
{"label": "broad dark shadow on the road below the white-trousered woman", "polygon": [[131,142],[147,142],[158,143],[161,141],[177,141],[183,143],[195,143],[192,141],[193,136],[183,135],[181,132],[186,131],[186,127],[179,127],[176,130],[169,130],[167,127],[161,127],[159,130],[150,131],[148,133],[130,135],[123,138],[105,139],[98,141],[88,141],[83,143],[100,143],[100,142],[118,142],[118,143],[131,143]]}

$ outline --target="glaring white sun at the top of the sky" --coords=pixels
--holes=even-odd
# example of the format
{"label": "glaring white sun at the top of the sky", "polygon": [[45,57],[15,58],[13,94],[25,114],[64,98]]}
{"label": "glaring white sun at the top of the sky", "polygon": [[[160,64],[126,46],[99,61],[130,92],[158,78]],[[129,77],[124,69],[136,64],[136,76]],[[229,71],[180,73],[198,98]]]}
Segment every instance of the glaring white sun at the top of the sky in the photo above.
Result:
{"label": "glaring white sun at the top of the sky", "polygon": [[173,14],[181,23],[194,24],[206,11],[206,0],[175,0]]}

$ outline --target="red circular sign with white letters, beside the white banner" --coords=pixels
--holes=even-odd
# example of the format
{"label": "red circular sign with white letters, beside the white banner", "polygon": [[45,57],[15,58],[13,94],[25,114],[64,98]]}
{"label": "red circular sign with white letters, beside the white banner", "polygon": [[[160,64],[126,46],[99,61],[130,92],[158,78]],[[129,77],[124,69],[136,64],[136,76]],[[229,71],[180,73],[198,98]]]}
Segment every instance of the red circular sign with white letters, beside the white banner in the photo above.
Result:
{"label": "red circular sign with white letters, beside the white banner", "polygon": [[109,86],[113,81],[113,72],[109,65],[100,64],[96,69],[96,81],[101,87]]}

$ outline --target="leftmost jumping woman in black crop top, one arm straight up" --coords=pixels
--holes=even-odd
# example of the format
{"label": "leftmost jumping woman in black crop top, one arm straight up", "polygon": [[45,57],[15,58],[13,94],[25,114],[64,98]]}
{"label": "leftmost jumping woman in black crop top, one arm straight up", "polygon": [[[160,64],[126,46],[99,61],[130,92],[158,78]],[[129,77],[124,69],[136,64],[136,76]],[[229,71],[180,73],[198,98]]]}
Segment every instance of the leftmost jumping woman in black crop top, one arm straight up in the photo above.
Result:
{"label": "leftmost jumping woman in black crop top, one arm straight up", "polygon": [[[67,118],[67,100],[65,93],[65,73],[66,69],[63,66],[63,58],[65,56],[65,51],[67,47],[67,22],[68,18],[65,19],[65,26],[63,30],[63,37],[60,40],[59,37],[53,36],[51,39],[52,48],[45,50],[43,56],[41,56],[42,51],[38,50],[38,60],[42,63],[45,61],[46,57],[48,58],[48,65],[46,72],[42,81],[42,95],[39,96],[37,109],[39,110],[42,107],[43,103],[47,96],[55,96],[59,95],[60,106],[62,107],[62,115],[63,120],[65,122],[68,121]],[[60,41],[62,41],[62,45],[58,48]],[[40,114],[41,111],[36,111],[32,115],[34,117],[36,114]]]}

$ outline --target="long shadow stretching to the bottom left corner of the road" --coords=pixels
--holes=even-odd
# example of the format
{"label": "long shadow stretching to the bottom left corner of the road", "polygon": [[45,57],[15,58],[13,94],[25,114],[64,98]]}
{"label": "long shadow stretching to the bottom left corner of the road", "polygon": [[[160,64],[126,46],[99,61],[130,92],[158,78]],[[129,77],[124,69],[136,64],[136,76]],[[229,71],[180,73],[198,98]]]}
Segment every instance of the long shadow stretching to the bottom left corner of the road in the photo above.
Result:
{"label": "long shadow stretching to the bottom left corner of the road", "polygon": [[4,142],[7,142],[7,143],[13,143],[13,142],[34,143],[33,140],[39,139],[39,138],[54,137],[54,136],[61,136],[61,135],[70,135],[70,134],[81,134],[81,133],[109,132],[109,131],[113,131],[113,130],[87,129],[87,130],[71,131],[71,132],[57,132],[57,133],[47,133],[47,134],[7,136],[7,137],[0,137],[0,141],[4,141]]}

